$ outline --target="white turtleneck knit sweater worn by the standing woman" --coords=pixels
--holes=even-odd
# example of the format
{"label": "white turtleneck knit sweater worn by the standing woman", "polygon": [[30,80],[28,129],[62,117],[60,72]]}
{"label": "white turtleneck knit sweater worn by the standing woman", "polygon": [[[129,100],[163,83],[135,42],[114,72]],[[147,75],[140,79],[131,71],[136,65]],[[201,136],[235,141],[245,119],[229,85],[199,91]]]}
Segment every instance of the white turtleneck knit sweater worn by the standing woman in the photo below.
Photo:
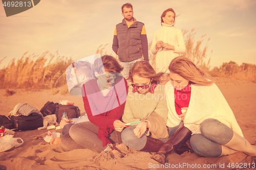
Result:
{"label": "white turtleneck knit sweater worn by the standing woman", "polygon": [[[170,45],[174,45],[175,51],[173,50],[156,50],[156,43],[158,41],[167,42]],[[162,23],[161,29],[154,32],[151,52],[156,54],[156,71],[160,72],[161,70],[169,72],[168,66],[170,62],[178,56],[181,56],[185,53],[186,47],[184,43],[184,38],[180,29],[177,29],[173,26]]]}

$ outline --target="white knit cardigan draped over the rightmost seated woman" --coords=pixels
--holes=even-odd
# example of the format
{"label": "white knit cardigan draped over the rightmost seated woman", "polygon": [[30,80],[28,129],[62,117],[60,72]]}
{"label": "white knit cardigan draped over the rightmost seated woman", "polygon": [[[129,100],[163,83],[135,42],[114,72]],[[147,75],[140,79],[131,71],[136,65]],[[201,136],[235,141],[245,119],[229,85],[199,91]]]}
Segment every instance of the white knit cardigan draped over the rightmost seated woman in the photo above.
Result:
{"label": "white knit cardigan draped over the rightmost seated woman", "polygon": [[[166,83],[165,93],[169,110],[167,126],[178,126],[181,119],[175,110],[174,87],[171,82]],[[219,120],[221,123],[243,136],[236,117],[234,117],[231,108],[216,84],[192,84],[189,106],[183,120],[184,126],[192,133],[201,133],[200,125],[203,120],[208,118]]]}

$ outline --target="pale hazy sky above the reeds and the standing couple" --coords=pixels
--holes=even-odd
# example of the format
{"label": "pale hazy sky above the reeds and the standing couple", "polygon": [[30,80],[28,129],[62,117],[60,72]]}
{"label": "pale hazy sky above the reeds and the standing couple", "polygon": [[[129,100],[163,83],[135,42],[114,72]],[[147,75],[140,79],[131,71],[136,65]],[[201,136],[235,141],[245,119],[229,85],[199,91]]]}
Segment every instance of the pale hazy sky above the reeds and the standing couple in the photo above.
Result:
{"label": "pale hazy sky above the reeds and the standing couple", "polygon": [[60,56],[77,61],[95,54],[99,45],[108,44],[107,53],[115,55],[114,29],[123,19],[121,6],[127,2],[133,5],[134,17],[145,24],[148,42],[161,28],[162,12],[173,8],[179,15],[176,28],[195,28],[196,40],[206,34],[205,43],[210,38],[207,56],[211,57],[211,68],[230,60],[239,65],[256,64],[254,0],[42,0],[10,17],[0,2],[0,60],[7,56],[0,68],[27,51],[26,56],[58,51]]}

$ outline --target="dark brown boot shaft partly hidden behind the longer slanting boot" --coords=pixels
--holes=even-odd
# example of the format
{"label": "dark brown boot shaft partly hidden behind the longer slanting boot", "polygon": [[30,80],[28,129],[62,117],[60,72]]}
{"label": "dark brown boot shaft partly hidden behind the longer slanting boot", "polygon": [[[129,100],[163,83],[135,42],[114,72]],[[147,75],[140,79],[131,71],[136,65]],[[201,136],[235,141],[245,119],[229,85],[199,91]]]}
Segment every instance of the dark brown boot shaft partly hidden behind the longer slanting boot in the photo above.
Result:
{"label": "dark brown boot shaft partly hidden behind the longer slanting boot", "polygon": [[155,138],[150,137],[150,136],[146,136],[145,147],[142,150],[140,150],[140,151],[144,151],[144,152],[158,152],[163,144],[164,144],[164,142],[162,142],[161,140],[155,139]]}

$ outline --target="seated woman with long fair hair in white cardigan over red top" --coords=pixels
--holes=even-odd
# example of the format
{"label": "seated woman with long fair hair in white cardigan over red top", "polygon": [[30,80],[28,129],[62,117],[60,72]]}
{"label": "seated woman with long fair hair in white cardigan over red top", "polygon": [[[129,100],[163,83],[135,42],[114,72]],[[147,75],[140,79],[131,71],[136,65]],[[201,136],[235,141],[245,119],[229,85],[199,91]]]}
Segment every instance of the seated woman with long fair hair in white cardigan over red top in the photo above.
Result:
{"label": "seated woman with long fair hair in white cardigan over red top", "polygon": [[[184,127],[192,132],[189,140],[192,149],[203,157],[238,151],[256,156],[256,147],[243,137],[223,94],[205,71],[183,56],[175,58],[168,69],[170,81],[165,85],[168,127],[179,126],[183,120]],[[159,160],[165,155],[161,152],[160,149],[156,154]]]}

